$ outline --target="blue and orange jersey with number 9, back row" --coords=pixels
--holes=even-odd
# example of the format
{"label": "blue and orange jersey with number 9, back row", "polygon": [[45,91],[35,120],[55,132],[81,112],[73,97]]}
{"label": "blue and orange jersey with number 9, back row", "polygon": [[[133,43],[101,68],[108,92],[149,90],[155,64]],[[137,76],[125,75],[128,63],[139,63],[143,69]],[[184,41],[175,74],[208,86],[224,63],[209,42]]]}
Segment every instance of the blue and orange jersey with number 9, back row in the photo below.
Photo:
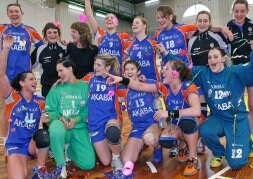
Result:
{"label": "blue and orange jersey with number 9, back row", "polygon": [[115,32],[109,34],[99,27],[96,32],[98,54],[108,53],[111,56],[117,57],[120,67],[122,67],[123,50],[125,49],[125,42],[129,38],[130,35],[128,33]]}

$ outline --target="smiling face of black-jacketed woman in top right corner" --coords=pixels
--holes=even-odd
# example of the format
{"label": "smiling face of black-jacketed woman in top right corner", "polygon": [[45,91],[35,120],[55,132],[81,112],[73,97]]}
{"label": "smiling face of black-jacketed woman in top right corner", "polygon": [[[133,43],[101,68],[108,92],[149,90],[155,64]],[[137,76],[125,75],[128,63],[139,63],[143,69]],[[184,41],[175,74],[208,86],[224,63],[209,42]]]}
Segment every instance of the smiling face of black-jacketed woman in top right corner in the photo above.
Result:
{"label": "smiling face of black-jacketed woman in top right corner", "polygon": [[245,4],[235,4],[232,10],[235,22],[238,25],[243,25],[249,9]]}

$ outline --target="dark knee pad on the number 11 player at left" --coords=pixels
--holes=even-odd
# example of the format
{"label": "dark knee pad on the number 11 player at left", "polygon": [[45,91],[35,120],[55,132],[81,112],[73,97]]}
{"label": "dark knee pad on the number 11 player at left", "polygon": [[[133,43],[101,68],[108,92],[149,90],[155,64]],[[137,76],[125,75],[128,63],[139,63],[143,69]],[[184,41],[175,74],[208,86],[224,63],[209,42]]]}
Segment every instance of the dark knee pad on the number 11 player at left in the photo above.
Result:
{"label": "dark knee pad on the number 11 player at left", "polygon": [[34,134],[33,134],[33,140],[36,143],[36,147],[38,149],[46,148],[49,147],[49,133],[45,129],[38,129]]}

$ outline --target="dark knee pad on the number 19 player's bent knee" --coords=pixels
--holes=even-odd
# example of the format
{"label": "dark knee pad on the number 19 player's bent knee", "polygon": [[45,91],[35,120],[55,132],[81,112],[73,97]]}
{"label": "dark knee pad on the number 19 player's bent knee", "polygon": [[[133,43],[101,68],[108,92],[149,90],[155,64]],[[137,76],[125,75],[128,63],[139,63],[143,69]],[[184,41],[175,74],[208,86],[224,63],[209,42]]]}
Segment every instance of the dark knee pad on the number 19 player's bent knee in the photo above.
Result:
{"label": "dark knee pad on the number 19 player's bent knee", "polygon": [[121,130],[116,124],[109,124],[105,129],[105,136],[109,144],[118,145],[121,142]]}

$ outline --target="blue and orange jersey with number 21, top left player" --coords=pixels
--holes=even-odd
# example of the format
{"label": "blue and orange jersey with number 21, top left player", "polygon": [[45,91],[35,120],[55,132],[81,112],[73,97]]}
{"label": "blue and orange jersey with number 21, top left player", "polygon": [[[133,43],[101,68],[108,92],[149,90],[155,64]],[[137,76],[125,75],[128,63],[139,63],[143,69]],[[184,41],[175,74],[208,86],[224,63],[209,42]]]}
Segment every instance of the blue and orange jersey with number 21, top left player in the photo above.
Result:
{"label": "blue and orange jersey with number 21, top left player", "polygon": [[15,27],[12,24],[1,24],[0,34],[14,37],[14,43],[8,55],[6,74],[10,81],[24,71],[31,70],[30,48],[33,43],[35,47],[43,44],[42,38],[32,27],[20,24]]}

